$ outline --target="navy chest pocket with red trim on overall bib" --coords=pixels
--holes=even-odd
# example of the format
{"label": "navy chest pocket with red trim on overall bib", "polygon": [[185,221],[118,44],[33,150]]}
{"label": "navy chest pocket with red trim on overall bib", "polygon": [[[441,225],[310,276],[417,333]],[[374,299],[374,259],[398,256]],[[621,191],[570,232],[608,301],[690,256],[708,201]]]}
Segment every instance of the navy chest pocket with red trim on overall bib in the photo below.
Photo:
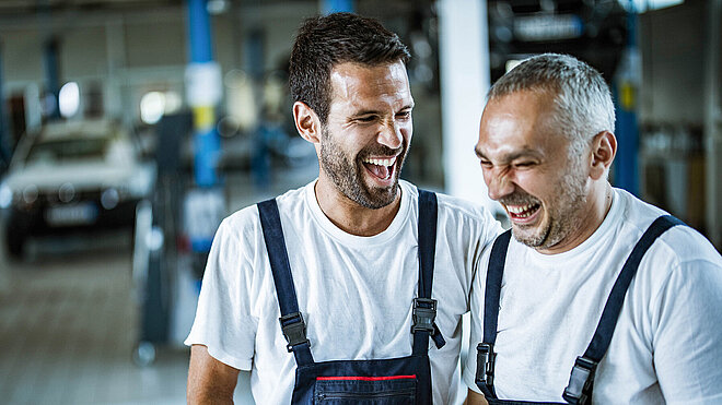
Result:
{"label": "navy chest pocket with red trim on overall bib", "polygon": [[416,403],[416,376],[318,377],[314,404],[401,405]]}

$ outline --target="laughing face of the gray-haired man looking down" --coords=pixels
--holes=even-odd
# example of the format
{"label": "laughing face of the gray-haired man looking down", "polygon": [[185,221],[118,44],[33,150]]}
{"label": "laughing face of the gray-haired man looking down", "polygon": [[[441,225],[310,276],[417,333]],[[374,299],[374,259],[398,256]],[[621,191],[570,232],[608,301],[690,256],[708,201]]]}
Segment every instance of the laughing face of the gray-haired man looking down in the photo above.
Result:
{"label": "laughing face of the gray-haired man looking down", "polygon": [[550,118],[548,92],[522,91],[489,102],[476,152],[489,188],[509,215],[514,237],[545,251],[580,233],[590,182],[583,159],[569,156],[569,140]]}

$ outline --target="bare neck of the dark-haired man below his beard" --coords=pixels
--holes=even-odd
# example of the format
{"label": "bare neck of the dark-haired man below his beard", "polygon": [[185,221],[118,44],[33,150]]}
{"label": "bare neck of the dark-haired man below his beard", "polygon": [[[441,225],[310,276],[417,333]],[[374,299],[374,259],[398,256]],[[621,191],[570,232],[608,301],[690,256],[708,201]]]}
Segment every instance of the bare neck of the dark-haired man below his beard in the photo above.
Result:
{"label": "bare neck of the dark-haired man below his beard", "polygon": [[316,201],[326,217],[341,230],[356,236],[374,236],[384,231],[401,205],[400,187],[391,204],[366,209],[339,192],[328,179],[318,178],[314,187]]}

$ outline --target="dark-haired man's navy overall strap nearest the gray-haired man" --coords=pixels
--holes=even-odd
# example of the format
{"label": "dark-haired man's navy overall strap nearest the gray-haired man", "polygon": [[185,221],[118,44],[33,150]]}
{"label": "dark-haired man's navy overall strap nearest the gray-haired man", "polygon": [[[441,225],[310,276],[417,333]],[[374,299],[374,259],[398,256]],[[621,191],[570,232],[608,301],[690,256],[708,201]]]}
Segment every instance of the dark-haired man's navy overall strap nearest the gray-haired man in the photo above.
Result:
{"label": "dark-haired man's navy overall strap nearest the gray-haired man", "polygon": [[436,194],[419,189],[419,296],[414,299],[411,324],[415,355],[426,355],[429,352],[429,336],[438,348],[446,344],[434,322],[436,300],[431,299],[438,211]]}

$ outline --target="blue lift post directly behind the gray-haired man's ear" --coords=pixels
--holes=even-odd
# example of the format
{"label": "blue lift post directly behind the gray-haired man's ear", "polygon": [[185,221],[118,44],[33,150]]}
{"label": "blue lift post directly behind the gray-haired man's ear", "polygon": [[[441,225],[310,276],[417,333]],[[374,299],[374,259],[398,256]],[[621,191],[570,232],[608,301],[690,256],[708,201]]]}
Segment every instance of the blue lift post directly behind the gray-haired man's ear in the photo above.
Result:
{"label": "blue lift post directly behind the gray-haired man's ear", "polygon": [[627,48],[616,74],[614,98],[617,106],[617,157],[614,165],[615,186],[639,195],[639,126],[637,108],[641,67],[637,48],[637,12],[629,0]]}

